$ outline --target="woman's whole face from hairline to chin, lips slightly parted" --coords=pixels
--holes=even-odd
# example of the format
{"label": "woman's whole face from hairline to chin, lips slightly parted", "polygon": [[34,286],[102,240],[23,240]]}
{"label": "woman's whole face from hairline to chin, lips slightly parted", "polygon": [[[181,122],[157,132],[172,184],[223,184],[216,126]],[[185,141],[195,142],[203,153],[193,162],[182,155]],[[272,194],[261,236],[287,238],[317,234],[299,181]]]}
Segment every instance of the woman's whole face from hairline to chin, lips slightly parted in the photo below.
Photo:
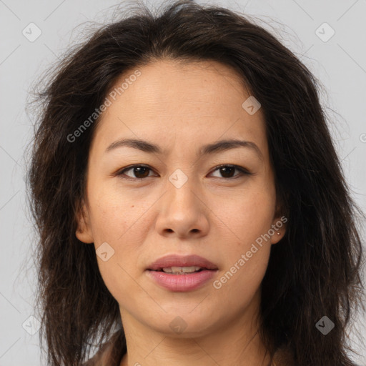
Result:
{"label": "woman's whole face from hairline to chin, lips slightly parted", "polygon": [[[187,337],[244,322],[285,233],[261,109],[242,107],[239,76],[214,61],[134,71],[95,131],[76,236],[94,243],[122,322]],[[164,257],[156,267],[198,272],[153,271]]]}

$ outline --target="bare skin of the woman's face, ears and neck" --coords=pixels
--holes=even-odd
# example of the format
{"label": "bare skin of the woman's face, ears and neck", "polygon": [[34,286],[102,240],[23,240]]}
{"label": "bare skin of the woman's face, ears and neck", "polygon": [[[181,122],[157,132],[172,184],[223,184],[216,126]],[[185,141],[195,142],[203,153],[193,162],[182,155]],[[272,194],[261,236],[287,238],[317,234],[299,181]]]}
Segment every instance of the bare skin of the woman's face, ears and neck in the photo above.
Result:
{"label": "bare skin of the woman's face, ears and neck", "polygon": [[[285,224],[221,288],[212,285],[282,216],[262,111],[250,115],[243,109],[249,92],[235,71],[214,61],[160,60],[139,71],[94,134],[76,232],[96,249],[104,242],[114,249],[106,262],[97,259],[127,335],[121,366],[267,366],[257,335],[260,284]],[[147,140],[163,154],[132,147],[106,152],[122,138]],[[198,155],[202,145],[221,139],[254,142],[261,155],[248,147]],[[124,172],[132,180],[117,175],[131,164],[151,170]],[[252,174],[224,175],[219,164]],[[169,182],[176,169],[187,177],[179,189]],[[166,254],[198,254],[219,270],[197,290],[165,290],[145,269]],[[187,325],[180,334],[169,326],[177,316]]]}

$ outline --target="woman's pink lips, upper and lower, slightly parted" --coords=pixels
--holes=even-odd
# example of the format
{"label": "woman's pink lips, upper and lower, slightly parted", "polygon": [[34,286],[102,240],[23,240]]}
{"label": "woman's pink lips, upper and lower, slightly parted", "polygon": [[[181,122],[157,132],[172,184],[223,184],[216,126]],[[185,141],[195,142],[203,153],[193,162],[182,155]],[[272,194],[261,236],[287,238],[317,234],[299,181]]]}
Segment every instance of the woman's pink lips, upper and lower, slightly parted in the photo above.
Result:
{"label": "woman's pink lips, upper and lower, slightly parted", "polygon": [[[200,272],[186,274],[171,274],[159,272],[164,267],[204,267]],[[214,277],[217,273],[217,266],[208,259],[198,255],[181,256],[177,254],[167,255],[149,264],[146,273],[150,279],[164,289],[184,292],[196,290]]]}

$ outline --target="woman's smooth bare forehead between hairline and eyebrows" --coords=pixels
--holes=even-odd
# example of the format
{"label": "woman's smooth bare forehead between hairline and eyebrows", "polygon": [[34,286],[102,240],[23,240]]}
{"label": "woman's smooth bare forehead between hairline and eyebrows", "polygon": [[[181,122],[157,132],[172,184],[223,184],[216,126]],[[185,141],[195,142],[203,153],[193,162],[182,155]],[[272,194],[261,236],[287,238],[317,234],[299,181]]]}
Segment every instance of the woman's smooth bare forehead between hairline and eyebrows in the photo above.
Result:
{"label": "woman's smooth bare forehead between hairline and eyebrows", "polygon": [[138,77],[130,77],[136,74],[130,69],[112,87],[119,93],[109,97],[112,104],[102,114],[94,144],[106,149],[127,137],[158,142],[166,152],[180,145],[183,152],[189,144],[198,149],[218,139],[242,138],[255,140],[265,154],[262,112],[251,115],[242,107],[250,94],[236,71],[215,61],[172,60],[137,70]]}

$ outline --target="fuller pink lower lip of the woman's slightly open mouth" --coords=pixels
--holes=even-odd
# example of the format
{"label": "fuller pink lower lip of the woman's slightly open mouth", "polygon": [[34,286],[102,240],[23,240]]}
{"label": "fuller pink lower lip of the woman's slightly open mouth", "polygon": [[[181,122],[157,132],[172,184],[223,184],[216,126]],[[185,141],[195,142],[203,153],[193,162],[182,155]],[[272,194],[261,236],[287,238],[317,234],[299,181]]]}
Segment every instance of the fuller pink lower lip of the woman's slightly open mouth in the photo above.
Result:
{"label": "fuller pink lower lip of the woman's slightly open mouth", "polygon": [[147,275],[151,277],[158,285],[170,291],[192,291],[203,286],[214,277],[216,270],[203,270],[187,274],[171,274],[160,271],[148,270]]}

